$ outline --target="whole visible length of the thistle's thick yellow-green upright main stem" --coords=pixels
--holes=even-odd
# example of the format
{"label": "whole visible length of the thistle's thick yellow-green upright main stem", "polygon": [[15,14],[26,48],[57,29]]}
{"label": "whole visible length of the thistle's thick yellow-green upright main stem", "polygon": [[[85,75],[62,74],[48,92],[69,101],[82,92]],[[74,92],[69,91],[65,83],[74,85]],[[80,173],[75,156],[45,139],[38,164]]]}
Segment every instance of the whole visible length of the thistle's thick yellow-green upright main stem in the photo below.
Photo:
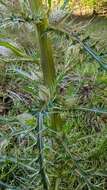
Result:
{"label": "whole visible length of the thistle's thick yellow-green upright main stem", "polygon": [[[48,28],[48,19],[47,15],[44,13],[42,0],[29,0],[29,3],[32,9],[33,16],[36,17],[37,15],[41,15],[40,22],[36,22],[35,24],[39,38],[41,54],[40,60],[44,77],[44,84],[50,89],[51,92],[56,79],[56,73],[51,42],[47,36],[47,33],[45,32]],[[61,119],[59,114],[53,114],[51,121],[51,125],[54,129],[60,129]]]}

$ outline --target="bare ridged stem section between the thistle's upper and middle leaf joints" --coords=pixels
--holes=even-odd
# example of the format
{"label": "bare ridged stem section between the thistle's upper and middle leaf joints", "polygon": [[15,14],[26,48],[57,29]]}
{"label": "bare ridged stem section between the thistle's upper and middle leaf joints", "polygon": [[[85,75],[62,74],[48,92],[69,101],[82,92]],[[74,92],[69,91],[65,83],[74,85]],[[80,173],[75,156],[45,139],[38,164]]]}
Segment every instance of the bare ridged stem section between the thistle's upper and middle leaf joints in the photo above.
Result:
{"label": "bare ridged stem section between the thistle's upper and middle leaf joints", "polygon": [[46,29],[45,22],[37,25],[40,50],[41,50],[41,67],[44,76],[45,85],[52,87],[55,81],[55,67],[52,57],[52,48],[47,34],[43,33]]}

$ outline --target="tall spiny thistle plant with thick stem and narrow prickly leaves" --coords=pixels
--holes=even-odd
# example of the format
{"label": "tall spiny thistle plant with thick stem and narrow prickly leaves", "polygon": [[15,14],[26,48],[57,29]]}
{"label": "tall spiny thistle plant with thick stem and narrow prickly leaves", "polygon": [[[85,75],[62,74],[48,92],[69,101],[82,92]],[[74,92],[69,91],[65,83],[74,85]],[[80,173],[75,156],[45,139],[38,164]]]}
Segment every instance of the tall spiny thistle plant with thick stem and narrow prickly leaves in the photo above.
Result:
{"label": "tall spiny thistle plant with thick stem and narrow prickly leaves", "polygon": [[[87,82],[90,79],[83,79],[78,72],[76,76],[67,75],[75,67],[68,54],[65,59],[67,64],[64,63],[63,70],[58,73],[50,36],[58,33],[64,36],[64,43],[66,39],[77,42],[104,71],[106,63],[66,23],[69,14],[63,8],[68,1],[54,10],[51,0],[20,0],[17,7],[16,1],[0,2],[10,11],[9,15],[6,13],[3,17],[4,21],[2,19],[2,30],[7,26],[10,29],[13,23],[18,27],[30,24],[37,43],[33,50],[28,47],[24,49],[4,40],[5,37],[1,35],[0,46],[9,48],[14,56],[1,57],[0,63],[12,64],[8,72],[15,80],[18,78],[20,86],[24,82],[20,87],[24,95],[20,90],[17,94],[8,89],[14,104],[13,110],[7,117],[0,117],[0,124],[4,127],[0,133],[0,188],[106,189],[107,170],[101,160],[105,163],[107,130],[100,115],[105,116],[107,111],[81,107],[81,99],[85,103],[85,99],[91,96],[92,101],[93,94],[90,94],[94,84],[92,87],[82,86],[84,80]],[[64,46],[64,52],[72,49],[70,43],[68,47]],[[70,98],[65,92],[69,91],[67,87],[72,88]],[[83,97],[80,97],[80,90]],[[75,97],[75,94],[78,96]],[[95,121],[99,122],[100,128],[94,124],[90,126],[90,117],[93,117],[94,124]]]}

